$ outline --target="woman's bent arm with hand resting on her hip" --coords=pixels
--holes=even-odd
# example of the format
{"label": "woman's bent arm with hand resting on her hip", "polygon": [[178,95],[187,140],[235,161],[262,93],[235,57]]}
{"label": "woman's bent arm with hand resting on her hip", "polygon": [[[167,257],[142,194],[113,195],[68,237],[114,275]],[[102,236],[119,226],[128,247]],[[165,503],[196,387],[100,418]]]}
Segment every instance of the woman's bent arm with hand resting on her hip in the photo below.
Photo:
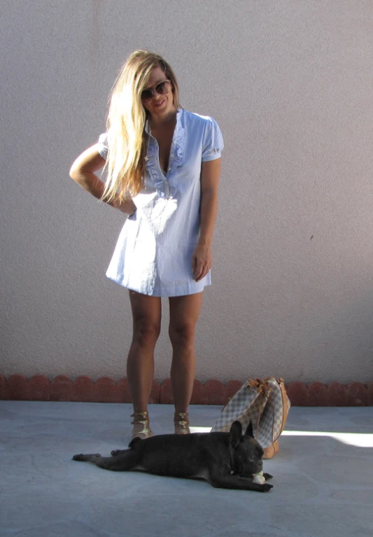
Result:
{"label": "woman's bent arm with hand resting on her hip", "polygon": [[[103,168],[105,165],[105,159],[101,157],[98,151],[98,144],[94,144],[90,148],[86,149],[78,158],[73,162],[70,169],[70,177],[78,185],[83,187],[87,192],[101,200],[104,194],[105,185],[94,172]],[[114,209],[119,209],[125,214],[134,214],[136,211],[136,205],[132,200],[115,200],[113,202],[106,202]]]}

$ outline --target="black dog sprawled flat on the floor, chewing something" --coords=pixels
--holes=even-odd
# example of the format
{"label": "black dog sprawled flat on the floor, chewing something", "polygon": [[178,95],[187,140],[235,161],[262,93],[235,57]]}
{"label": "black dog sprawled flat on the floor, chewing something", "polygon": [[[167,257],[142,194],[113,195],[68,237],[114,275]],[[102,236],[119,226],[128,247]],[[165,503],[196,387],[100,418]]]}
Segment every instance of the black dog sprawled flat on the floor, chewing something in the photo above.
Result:
{"label": "black dog sprawled flat on the floor, chewing something", "polygon": [[[129,449],[117,449],[112,456],[74,455],[74,461],[90,461],[105,470],[142,470],[170,477],[203,478],[213,487],[267,492],[272,484],[253,482],[262,470],[263,450],[248,425],[234,421],[229,433],[157,435],[146,440],[134,438]],[[272,475],[263,474],[266,480]]]}

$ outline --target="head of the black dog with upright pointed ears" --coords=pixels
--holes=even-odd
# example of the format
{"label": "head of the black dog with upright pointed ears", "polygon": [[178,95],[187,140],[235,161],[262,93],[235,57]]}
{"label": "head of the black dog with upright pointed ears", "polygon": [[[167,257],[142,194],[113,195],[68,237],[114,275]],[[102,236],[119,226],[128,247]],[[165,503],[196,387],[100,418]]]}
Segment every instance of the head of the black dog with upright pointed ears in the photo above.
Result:
{"label": "head of the black dog with upright pointed ears", "polygon": [[262,471],[262,456],[264,454],[260,443],[253,435],[251,422],[242,434],[239,421],[234,421],[230,428],[230,445],[232,447],[233,471],[242,477],[253,477],[253,474]]}

